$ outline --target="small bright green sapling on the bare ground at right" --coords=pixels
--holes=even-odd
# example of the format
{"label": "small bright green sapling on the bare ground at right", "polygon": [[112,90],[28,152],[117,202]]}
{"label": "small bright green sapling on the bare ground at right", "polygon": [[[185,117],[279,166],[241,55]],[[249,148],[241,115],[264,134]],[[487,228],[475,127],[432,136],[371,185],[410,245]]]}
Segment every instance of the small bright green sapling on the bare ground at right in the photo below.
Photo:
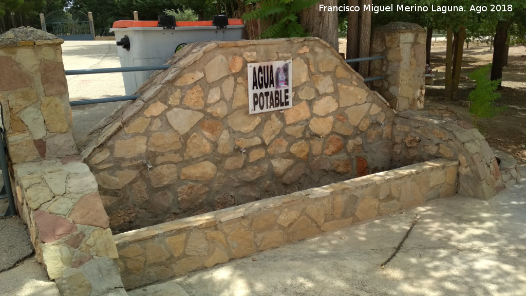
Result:
{"label": "small bright green sapling on the bare ground at right", "polygon": [[472,102],[469,113],[473,115],[473,125],[477,125],[479,118],[493,117],[507,108],[495,106],[495,101],[500,97],[500,94],[495,92],[500,80],[491,81],[488,78],[490,68],[491,64],[488,64],[469,74],[469,78],[477,84],[469,93],[469,100]]}

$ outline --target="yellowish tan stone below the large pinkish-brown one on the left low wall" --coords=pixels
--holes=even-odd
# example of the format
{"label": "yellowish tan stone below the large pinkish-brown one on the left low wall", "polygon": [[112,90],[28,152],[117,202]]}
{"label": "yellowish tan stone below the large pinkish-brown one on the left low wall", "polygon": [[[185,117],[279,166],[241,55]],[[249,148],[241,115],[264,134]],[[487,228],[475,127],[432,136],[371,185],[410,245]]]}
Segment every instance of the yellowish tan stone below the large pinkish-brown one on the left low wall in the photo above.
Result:
{"label": "yellowish tan stone below the large pinkish-brown one on the left low wall", "polygon": [[111,259],[119,258],[115,241],[113,240],[112,230],[95,229],[89,238],[80,244],[79,250],[95,256],[105,256]]}

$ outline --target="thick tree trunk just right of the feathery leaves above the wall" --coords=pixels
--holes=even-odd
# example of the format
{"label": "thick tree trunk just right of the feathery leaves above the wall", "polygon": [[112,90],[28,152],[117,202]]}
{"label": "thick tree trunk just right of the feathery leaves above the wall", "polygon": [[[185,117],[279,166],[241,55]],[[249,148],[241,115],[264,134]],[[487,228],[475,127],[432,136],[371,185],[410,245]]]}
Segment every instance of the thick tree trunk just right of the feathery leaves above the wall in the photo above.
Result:
{"label": "thick tree trunk just right of the feathery leaves above the wall", "polygon": [[319,4],[337,6],[337,0],[321,0],[301,11],[301,26],[311,36],[319,37],[338,52],[338,13],[319,11]]}

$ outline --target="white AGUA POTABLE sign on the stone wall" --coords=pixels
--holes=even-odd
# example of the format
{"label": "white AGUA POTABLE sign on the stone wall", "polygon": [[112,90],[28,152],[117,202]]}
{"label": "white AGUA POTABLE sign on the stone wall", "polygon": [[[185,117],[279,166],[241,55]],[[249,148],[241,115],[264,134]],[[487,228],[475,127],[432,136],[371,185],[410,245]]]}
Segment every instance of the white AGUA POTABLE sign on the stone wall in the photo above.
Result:
{"label": "white AGUA POTABLE sign on the stone wall", "polygon": [[248,64],[249,114],[292,107],[292,60]]}

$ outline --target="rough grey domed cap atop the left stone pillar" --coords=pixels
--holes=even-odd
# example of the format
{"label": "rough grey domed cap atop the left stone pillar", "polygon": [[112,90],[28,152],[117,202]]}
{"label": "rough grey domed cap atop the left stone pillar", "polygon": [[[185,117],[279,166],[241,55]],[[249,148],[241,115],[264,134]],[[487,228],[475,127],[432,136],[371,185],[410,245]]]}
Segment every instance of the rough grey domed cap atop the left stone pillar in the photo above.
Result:
{"label": "rough grey domed cap atop the left stone pillar", "polygon": [[18,27],[0,35],[0,48],[62,43],[63,39],[33,27]]}

